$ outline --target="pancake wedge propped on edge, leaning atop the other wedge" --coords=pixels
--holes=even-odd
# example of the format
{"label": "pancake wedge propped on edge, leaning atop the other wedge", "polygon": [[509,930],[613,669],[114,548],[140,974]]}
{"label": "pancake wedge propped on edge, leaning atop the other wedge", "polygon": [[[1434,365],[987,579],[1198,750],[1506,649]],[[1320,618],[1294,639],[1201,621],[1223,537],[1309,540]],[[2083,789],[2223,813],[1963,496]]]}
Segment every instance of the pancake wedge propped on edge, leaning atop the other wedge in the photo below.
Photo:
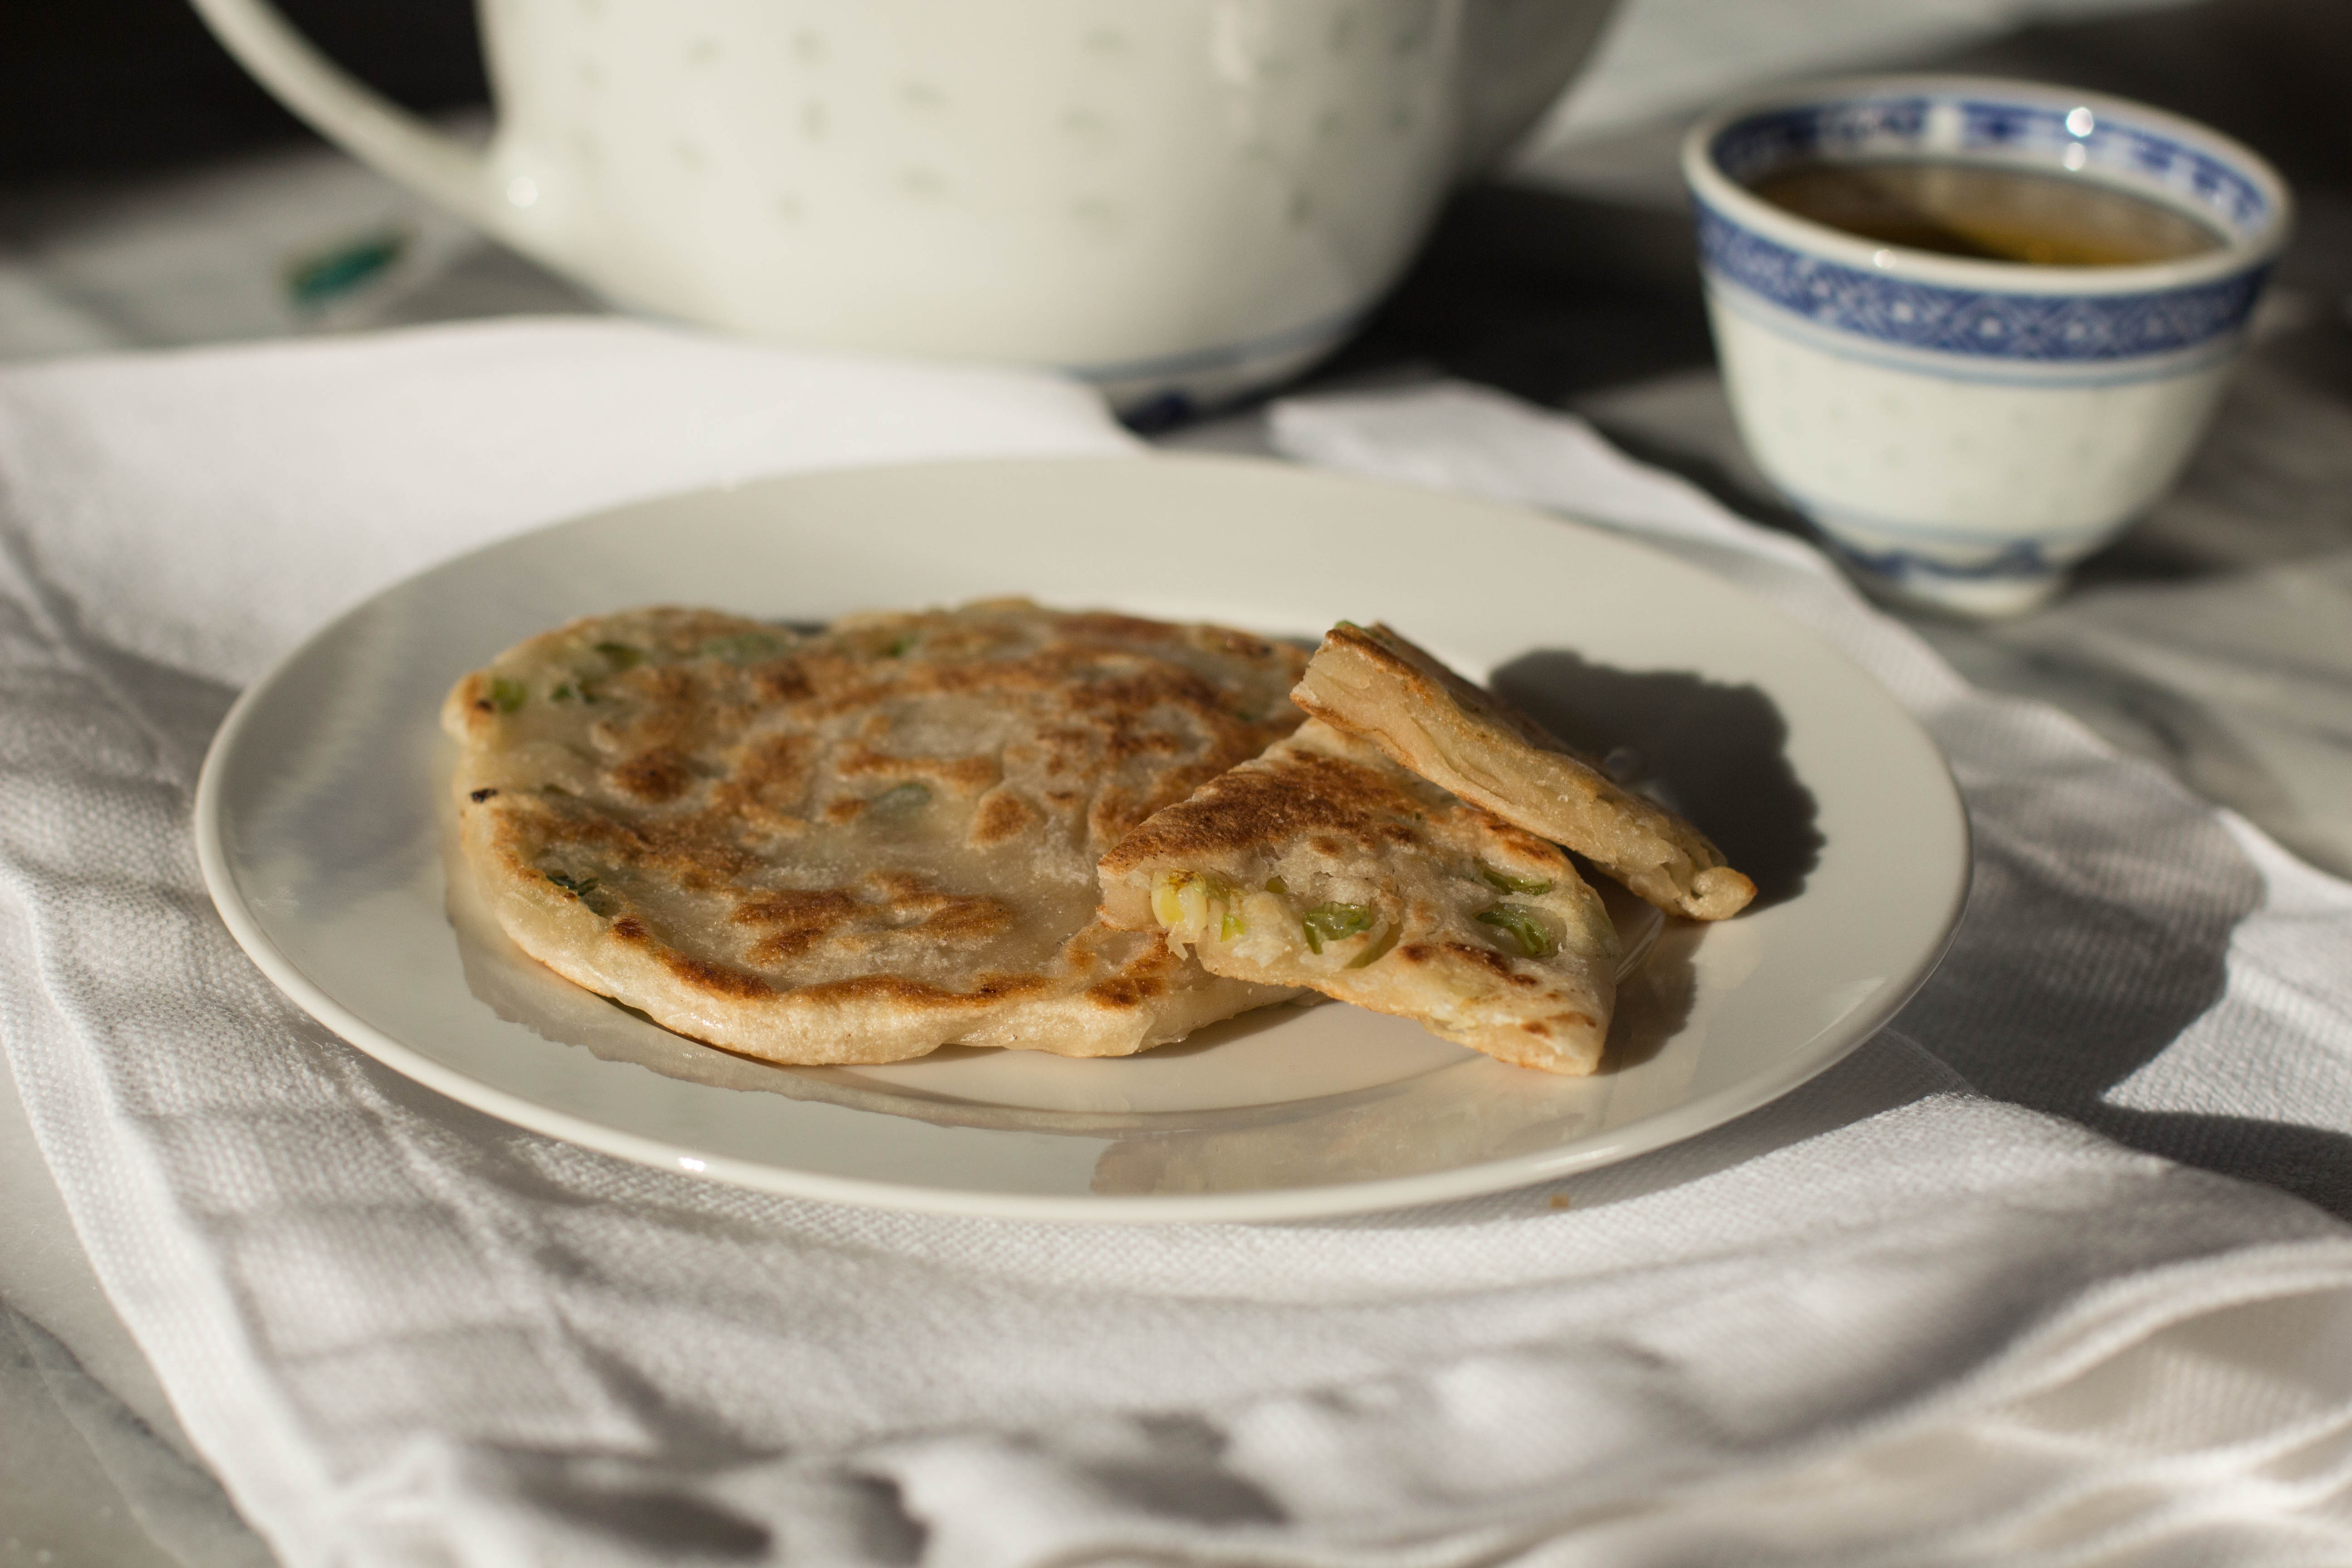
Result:
{"label": "pancake wedge propped on edge, leaning atop the other wedge", "polygon": [[1670,914],[1726,919],[1757,893],[1698,827],[1618,788],[1385,625],[1334,625],[1291,701],[1465,802],[1566,844]]}

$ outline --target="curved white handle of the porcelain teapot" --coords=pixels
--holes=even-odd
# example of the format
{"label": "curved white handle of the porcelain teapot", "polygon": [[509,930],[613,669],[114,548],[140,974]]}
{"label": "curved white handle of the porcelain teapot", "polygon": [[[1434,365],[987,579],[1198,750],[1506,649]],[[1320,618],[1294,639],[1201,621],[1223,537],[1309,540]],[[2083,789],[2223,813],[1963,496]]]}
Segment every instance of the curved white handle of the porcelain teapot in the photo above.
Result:
{"label": "curved white handle of the porcelain teapot", "polygon": [[524,214],[539,183],[499,179],[487,153],[433,129],[353,80],[266,0],[193,0],[212,35],[296,115],[346,153],[546,261],[560,261],[543,221]]}

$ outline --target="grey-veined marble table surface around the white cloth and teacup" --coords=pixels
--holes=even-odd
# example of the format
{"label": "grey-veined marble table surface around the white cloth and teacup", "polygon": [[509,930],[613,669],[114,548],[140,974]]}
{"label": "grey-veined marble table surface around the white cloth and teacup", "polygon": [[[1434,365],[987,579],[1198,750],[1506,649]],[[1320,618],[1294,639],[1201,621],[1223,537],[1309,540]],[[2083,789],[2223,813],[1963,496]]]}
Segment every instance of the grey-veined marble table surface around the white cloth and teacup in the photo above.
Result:
{"label": "grey-veined marble table surface around the white cloth and teacup", "polygon": [[[1653,9],[1696,33],[1705,7]],[[2336,96],[2352,82],[2352,14],[2333,0],[2216,0],[1936,45],[1896,28],[1837,63],[2164,103],[2279,162],[2300,226],[2180,489],[2058,604],[1997,625],[1912,625],[1978,684],[2074,712],[2352,875],[2352,143]],[[1663,52],[1649,33],[1630,40],[1625,80],[1644,61],[1663,71]],[[1675,56],[1691,94],[1733,80],[1736,66],[1691,59]],[[1682,118],[1597,96],[1599,110],[1581,99],[1573,134],[1463,193],[1390,303],[1301,390],[1484,381],[1573,409],[1748,517],[1802,531],[1740,451],[1712,369],[1675,176]],[[289,296],[289,261],[395,230],[400,259],[365,284]],[[0,193],[0,360],[593,308],[318,146]],[[1258,409],[1155,440],[1268,449]],[[89,1272],[14,1088],[0,1093],[0,1566],[268,1563]]]}

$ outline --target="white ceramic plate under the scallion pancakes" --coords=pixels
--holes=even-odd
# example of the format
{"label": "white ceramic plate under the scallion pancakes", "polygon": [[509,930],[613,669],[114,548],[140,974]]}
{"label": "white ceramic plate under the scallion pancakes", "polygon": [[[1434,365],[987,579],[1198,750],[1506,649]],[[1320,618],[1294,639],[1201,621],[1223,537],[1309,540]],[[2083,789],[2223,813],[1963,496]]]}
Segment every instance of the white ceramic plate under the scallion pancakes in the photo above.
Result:
{"label": "white ceramic plate under the scallion pancakes", "polygon": [[[524,959],[445,877],[435,712],[524,635],[647,602],[826,621],[1004,592],[1308,637],[1390,621],[1571,738],[1632,745],[1764,896],[1719,926],[1668,922],[1590,1079],[1336,1004],[1127,1060],[948,1048],[851,1070],[668,1034]],[[1689,1138],[1884,1023],[1969,877],[1933,743],[1736,588],[1559,520],[1225,458],[811,475],[492,545],[245,693],[205,762],[198,846],[270,980],[466,1105],[776,1192],[1077,1220],[1388,1208]]]}

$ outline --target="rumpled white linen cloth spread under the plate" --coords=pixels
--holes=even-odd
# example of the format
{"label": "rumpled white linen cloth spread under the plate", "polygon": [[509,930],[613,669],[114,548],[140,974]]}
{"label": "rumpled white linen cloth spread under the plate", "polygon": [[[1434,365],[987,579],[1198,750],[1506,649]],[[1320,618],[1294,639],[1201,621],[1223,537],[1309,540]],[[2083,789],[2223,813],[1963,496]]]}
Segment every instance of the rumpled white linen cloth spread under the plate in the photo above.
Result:
{"label": "rumpled white linen cloth spread under the plate", "polygon": [[233,684],[569,512],[1127,437],[1042,376],[609,322],[0,371],[0,1041],[282,1559],[2352,1559],[2352,889],[1569,418],[1275,435],[1646,536],[1877,672],[1976,827],[1943,971],[1752,1117],[1444,1208],[1004,1225],[628,1166],[245,961],[188,837]]}

